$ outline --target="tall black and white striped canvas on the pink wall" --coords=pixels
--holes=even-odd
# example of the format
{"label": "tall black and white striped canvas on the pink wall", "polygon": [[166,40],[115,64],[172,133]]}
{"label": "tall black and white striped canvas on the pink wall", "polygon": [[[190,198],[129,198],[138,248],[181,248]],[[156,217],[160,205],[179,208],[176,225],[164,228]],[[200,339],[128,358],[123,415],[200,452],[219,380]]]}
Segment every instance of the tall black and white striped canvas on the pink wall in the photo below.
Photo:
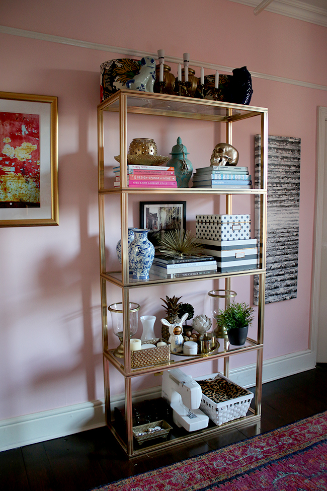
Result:
{"label": "tall black and white striped canvas on the pink wall", "polygon": [[[267,275],[265,303],[297,296],[301,139],[268,136]],[[255,180],[260,177],[261,136],[255,136]],[[256,201],[256,228],[259,225]],[[258,229],[256,237],[258,237]],[[258,305],[259,279],[254,279]]]}

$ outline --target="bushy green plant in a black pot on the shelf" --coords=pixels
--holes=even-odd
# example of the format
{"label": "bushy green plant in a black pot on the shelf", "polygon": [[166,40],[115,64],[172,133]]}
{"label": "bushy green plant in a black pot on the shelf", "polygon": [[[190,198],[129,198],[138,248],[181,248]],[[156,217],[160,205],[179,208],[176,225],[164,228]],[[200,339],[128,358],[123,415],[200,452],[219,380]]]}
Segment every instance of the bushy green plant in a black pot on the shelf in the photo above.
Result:
{"label": "bushy green plant in a black pot on the shelf", "polygon": [[241,346],[246,342],[249,325],[252,324],[254,309],[246,303],[233,302],[215,316],[217,327],[227,332],[229,342]]}

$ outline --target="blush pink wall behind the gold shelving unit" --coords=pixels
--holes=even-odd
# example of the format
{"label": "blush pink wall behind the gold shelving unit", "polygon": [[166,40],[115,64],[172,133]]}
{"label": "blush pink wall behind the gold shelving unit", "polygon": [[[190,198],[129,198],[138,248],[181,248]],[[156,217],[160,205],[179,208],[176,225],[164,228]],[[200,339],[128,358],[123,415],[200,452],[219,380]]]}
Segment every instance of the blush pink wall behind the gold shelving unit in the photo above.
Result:
{"label": "blush pink wall behind the gold shelving unit", "polygon": [[[45,34],[148,53],[165,49],[169,56],[189,51],[191,60],[247,65],[252,72],[315,84],[327,80],[326,28],[268,12],[254,16],[252,8],[226,0],[3,0],[0,19],[4,26]],[[58,227],[0,229],[0,419],[103,397],[96,109],[100,64],[118,57],[123,55],[114,50],[0,34],[1,90],[59,98],[60,221]],[[327,92],[259,78],[253,88],[251,104],[269,109],[269,134],[301,138],[298,297],[266,307],[264,356],[271,359],[308,347],[316,110],[327,106]],[[192,123],[187,130],[174,124],[169,137],[159,123],[153,126],[160,153],[167,155],[181,132],[196,167],[217,143],[212,129],[197,136]],[[189,142],[188,131],[194,131]],[[244,155],[253,151],[253,139],[240,137],[237,145]],[[191,228],[196,211],[188,203]],[[137,220],[137,203],[132,215]],[[111,258],[116,260],[114,250]],[[183,300],[203,313],[211,284],[198,285],[196,294],[187,287]],[[248,286],[241,280],[240,287]],[[159,297],[177,294],[170,287],[152,298],[143,290],[135,300],[143,314],[158,319]],[[249,292],[242,295],[250,301]],[[152,379],[145,383],[154,385]],[[114,381],[114,392],[121,391],[121,381]]]}

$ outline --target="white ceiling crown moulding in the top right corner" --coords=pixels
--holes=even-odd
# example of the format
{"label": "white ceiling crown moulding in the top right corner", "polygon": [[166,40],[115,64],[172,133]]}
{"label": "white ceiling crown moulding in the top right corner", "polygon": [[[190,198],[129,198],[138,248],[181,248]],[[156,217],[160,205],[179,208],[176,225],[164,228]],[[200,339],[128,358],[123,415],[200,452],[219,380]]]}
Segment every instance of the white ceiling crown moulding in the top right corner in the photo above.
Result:
{"label": "white ceiling crown moulding in the top right corner", "polygon": [[[236,4],[248,5],[250,7],[258,7],[260,0],[228,0]],[[298,0],[274,0],[265,8],[268,12],[274,14],[293,17],[300,21],[311,22],[318,26],[327,27],[327,10],[320,9],[314,5],[309,5]]]}

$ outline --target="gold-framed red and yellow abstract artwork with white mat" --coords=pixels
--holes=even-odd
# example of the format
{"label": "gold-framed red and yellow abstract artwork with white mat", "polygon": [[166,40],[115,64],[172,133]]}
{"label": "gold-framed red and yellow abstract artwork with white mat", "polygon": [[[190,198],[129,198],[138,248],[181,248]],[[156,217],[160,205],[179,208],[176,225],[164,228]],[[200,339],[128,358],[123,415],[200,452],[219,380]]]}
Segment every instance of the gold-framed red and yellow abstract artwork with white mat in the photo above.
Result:
{"label": "gold-framed red and yellow abstract artwork with white mat", "polygon": [[0,92],[0,226],[58,225],[58,98]]}

